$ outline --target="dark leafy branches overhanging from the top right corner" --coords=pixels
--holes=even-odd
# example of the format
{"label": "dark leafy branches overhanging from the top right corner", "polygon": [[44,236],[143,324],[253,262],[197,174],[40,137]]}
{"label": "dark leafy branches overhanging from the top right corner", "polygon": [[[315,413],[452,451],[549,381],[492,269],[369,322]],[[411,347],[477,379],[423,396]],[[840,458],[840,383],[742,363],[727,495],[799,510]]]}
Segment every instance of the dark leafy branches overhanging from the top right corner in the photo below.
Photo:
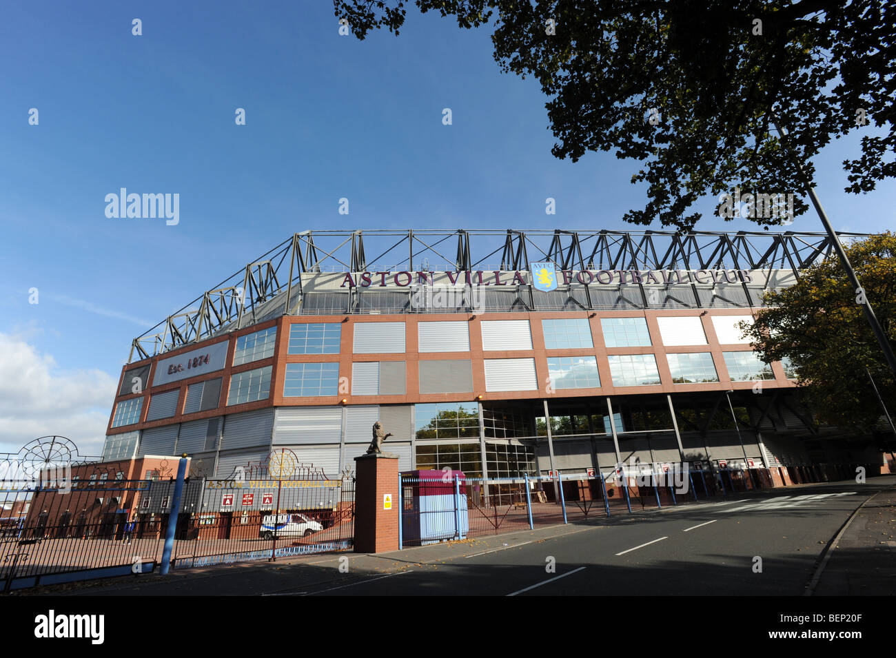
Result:
{"label": "dark leafy branches overhanging from the top right corner", "polygon": [[[398,34],[408,0],[333,0],[359,39]],[[464,29],[491,25],[504,73],[538,79],[557,158],[615,150],[642,168],[625,221],[693,229],[707,193],[794,194],[831,139],[864,131],[847,192],[896,176],[896,4],[891,0],[415,0]],[[771,134],[780,120],[786,145]],[[868,126],[888,130],[869,134]],[[797,163],[805,170],[798,171]],[[721,201],[721,199],[720,199]],[[754,217],[768,226],[781,218]]]}

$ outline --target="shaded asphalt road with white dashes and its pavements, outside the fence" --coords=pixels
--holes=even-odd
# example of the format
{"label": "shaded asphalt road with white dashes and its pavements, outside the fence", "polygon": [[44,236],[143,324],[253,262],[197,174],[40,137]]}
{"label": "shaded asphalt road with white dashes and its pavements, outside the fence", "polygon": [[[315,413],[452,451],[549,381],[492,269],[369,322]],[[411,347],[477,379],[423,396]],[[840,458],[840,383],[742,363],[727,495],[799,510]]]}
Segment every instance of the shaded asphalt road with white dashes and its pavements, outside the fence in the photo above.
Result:
{"label": "shaded asphalt road with white dashes and its pavements, outside the fence", "polygon": [[893,594],[894,504],[896,476],[887,475],[375,555],[175,570],[13,595]]}

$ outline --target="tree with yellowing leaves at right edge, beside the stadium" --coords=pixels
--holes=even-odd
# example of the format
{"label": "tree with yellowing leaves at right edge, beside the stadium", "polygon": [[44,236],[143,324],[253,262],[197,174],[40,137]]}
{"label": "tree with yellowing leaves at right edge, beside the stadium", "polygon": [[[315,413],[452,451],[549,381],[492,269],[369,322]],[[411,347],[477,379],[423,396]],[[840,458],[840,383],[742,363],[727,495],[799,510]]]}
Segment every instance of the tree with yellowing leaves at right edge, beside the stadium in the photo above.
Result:
{"label": "tree with yellowing leaves at right edge, beside the stadium", "polygon": [[764,295],[767,308],[746,336],[766,362],[790,361],[819,420],[869,431],[883,416],[869,373],[891,414],[896,381],[857,298],[866,295],[896,345],[896,235],[874,235],[846,250],[863,291],[857,295],[838,261],[822,261],[803,270],[796,285]]}

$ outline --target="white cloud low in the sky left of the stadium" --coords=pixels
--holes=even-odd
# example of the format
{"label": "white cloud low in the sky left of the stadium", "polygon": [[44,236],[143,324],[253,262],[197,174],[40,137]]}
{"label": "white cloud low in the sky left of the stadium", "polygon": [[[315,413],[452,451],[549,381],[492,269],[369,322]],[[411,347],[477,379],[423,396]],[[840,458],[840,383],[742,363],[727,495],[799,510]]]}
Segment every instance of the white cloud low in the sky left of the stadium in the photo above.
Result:
{"label": "white cloud low in the sky left of the stadium", "polygon": [[99,455],[117,380],[100,370],[60,371],[21,336],[0,333],[0,451],[58,434]]}

